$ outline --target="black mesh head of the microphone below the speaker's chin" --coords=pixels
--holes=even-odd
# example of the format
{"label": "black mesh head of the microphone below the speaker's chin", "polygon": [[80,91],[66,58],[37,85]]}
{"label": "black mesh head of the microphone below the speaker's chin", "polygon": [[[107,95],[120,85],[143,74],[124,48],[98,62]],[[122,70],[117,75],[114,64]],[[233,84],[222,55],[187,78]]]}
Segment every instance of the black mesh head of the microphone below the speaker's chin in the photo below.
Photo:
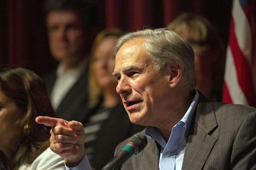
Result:
{"label": "black mesh head of the microphone below the speaker's chin", "polygon": [[128,142],[134,143],[134,145],[136,145],[136,147],[138,148],[138,152],[135,154],[143,151],[144,148],[147,146],[147,138],[142,133],[136,133],[128,140]]}

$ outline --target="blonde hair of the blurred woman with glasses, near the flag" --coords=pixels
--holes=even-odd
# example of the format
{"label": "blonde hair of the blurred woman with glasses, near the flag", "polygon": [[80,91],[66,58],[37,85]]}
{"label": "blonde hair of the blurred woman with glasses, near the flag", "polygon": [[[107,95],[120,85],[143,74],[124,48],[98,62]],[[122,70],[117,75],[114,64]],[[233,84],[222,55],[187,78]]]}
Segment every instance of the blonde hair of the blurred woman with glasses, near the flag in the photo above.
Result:
{"label": "blonde hair of the blurred woman with glasses, near the flag", "polygon": [[225,50],[217,29],[210,21],[202,16],[184,13],[169,23],[166,28],[177,32],[181,36],[187,28],[192,28],[195,31],[195,34],[191,35],[193,40],[196,41],[196,43],[209,45],[211,47],[215,58],[212,63],[213,90],[215,92],[222,91]]}

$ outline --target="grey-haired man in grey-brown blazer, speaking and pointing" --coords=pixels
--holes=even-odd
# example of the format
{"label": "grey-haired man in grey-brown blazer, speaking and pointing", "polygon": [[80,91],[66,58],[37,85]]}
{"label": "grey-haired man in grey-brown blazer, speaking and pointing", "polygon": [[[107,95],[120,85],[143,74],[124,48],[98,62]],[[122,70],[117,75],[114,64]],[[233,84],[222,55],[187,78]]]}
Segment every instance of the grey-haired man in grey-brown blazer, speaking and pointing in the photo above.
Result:
{"label": "grey-haired man in grey-brown blazer, speaking and pointing", "polygon": [[[211,102],[195,90],[194,52],[185,40],[165,28],[145,29],[123,35],[115,50],[116,90],[130,121],[147,126],[148,140],[122,169],[256,168],[256,109]],[[67,167],[85,168],[82,124],[36,121],[52,126],[51,150]]]}

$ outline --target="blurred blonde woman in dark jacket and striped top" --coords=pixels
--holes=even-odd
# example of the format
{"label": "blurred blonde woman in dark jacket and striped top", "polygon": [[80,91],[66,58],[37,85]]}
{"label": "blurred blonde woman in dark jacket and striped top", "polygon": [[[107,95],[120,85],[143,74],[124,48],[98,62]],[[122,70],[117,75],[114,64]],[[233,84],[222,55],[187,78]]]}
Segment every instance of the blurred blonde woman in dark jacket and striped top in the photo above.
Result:
{"label": "blurred blonde woman in dark jacket and striped top", "polygon": [[84,127],[85,151],[95,169],[102,169],[113,158],[121,141],[144,129],[130,122],[116,92],[113,49],[121,35],[118,29],[105,29],[97,35],[91,50],[89,99],[94,110]]}

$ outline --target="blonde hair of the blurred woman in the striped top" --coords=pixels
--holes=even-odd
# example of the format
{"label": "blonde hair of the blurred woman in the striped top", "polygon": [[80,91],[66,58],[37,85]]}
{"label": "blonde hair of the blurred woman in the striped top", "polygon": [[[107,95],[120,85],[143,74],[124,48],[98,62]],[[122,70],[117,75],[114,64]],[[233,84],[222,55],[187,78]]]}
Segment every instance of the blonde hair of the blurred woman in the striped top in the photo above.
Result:
{"label": "blonde hair of the blurred woman in the striped top", "polygon": [[98,85],[97,81],[95,80],[92,68],[95,50],[97,49],[99,43],[103,39],[107,37],[115,37],[118,39],[120,36],[122,36],[122,34],[123,32],[119,29],[104,29],[96,36],[93,42],[89,64],[89,107],[95,107],[99,103],[101,99],[100,97],[102,95],[102,88]]}

